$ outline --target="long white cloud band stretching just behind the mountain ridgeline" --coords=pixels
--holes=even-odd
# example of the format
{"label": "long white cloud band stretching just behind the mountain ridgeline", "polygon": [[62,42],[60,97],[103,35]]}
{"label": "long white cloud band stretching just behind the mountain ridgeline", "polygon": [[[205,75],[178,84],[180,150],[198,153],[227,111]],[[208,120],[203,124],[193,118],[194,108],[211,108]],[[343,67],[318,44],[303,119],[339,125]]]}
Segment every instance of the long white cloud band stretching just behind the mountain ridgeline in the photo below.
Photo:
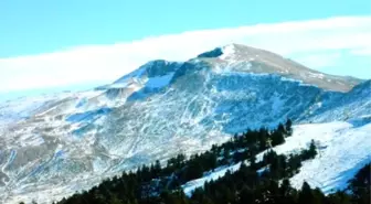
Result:
{"label": "long white cloud band stretching just behind the mountain ridgeline", "polygon": [[285,56],[310,53],[305,63],[320,68],[337,57],[327,58],[314,53],[370,51],[370,39],[371,17],[344,17],[192,31],[113,45],[81,46],[64,52],[0,58],[0,92],[110,82],[150,60],[184,61],[230,43],[266,49]]}

